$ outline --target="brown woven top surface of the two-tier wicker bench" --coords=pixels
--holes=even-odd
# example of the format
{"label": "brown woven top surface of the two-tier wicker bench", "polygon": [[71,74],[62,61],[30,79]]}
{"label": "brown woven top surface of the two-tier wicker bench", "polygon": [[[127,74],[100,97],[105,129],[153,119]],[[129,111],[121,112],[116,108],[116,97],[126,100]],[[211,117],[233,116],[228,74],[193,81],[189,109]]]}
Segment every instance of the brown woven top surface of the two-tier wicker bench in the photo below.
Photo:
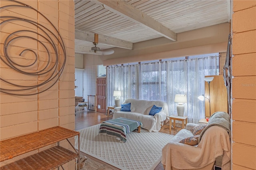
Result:
{"label": "brown woven top surface of the two-tier wicker bench", "polygon": [[79,132],[67,128],[52,127],[2,140],[0,141],[0,162],[79,134]]}

